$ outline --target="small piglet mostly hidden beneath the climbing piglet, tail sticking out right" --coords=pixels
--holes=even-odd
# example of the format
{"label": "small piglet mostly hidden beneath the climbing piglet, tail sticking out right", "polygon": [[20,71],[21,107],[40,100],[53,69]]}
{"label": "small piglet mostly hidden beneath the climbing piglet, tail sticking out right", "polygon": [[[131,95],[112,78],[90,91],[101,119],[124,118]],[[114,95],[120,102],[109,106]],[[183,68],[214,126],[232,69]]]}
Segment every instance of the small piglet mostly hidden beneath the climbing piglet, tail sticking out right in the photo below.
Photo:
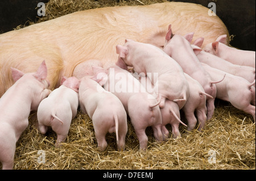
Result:
{"label": "small piglet mostly hidden beneath the climbing piglet, tail sticking out right", "polygon": [[[143,76],[138,76],[137,79],[139,79],[139,82],[141,82],[141,84],[146,88],[146,91],[148,93],[150,93],[156,97],[155,92],[154,92],[154,86],[152,85],[149,78],[143,77]],[[189,99],[189,96],[188,96],[188,99]],[[161,115],[162,115],[161,131],[163,133],[164,140],[167,140],[167,138],[169,137],[169,131],[166,128],[167,124],[171,124],[172,136],[174,138],[177,138],[180,136],[180,131],[179,131],[180,123],[183,124],[185,127],[187,127],[187,125],[185,125],[180,120],[180,111],[179,110],[180,110],[179,106],[175,102],[173,102],[169,99],[166,99],[164,107],[160,108]]]}

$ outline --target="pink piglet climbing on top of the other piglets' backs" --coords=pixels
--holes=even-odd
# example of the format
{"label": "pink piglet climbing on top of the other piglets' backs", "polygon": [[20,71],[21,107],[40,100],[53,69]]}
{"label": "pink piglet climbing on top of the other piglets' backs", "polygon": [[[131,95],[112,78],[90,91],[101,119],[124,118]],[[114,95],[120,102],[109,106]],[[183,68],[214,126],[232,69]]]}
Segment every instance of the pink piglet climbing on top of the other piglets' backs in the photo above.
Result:
{"label": "pink piglet climbing on top of the other piglets' backs", "polygon": [[[189,92],[188,83],[175,60],[154,45],[133,40],[126,40],[124,45],[117,45],[116,48],[119,54],[118,66],[123,69],[133,66],[136,73],[147,75],[151,80],[154,91],[161,99],[160,108],[164,107],[166,99],[177,102],[180,108],[184,106]],[[148,73],[157,73],[158,77],[155,80]]]}

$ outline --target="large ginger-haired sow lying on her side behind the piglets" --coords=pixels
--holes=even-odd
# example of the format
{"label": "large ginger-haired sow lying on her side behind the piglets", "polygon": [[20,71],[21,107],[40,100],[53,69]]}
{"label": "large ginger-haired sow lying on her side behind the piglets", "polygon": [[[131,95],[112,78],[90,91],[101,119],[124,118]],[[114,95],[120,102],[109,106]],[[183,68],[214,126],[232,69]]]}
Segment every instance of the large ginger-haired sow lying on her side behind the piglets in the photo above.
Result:
{"label": "large ginger-haired sow lying on her side behind the piglets", "polygon": [[[33,72],[46,60],[49,89],[56,88],[61,77],[71,77],[81,62],[95,58],[105,68],[114,65],[115,45],[122,44],[125,38],[163,47],[170,22],[180,35],[193,30],[195,39],[203,36],[204,44],[213,42],[216,37],[228,34],[228,30],[217,16],[209,16],[208,10],[181,2],[105,7],[3,33],[0,35],[0,96],[13,85],[11,66],[25,73]],[[181,18],[177,18],[180,14]],[[201,22],[201,19],[207,20]]]}

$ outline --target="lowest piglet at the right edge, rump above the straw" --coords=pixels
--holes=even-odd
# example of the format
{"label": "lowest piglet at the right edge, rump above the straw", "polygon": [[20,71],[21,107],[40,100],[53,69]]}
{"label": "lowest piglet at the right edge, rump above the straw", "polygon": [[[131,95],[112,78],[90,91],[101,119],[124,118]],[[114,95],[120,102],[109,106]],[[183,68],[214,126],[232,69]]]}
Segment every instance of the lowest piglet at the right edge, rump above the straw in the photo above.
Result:
{"label": "lowest piglet at the right edge, rump above the straw", "polygon": [[216,84],[216,98],[226,100],[238,110],[249,113],[253,116],[255,122],[255,87],[253,87],[255,80],[250,83],[242,77],[211,68],[207,64],[201,64],[212,75],[214,80],[226,74],[224,81]]}

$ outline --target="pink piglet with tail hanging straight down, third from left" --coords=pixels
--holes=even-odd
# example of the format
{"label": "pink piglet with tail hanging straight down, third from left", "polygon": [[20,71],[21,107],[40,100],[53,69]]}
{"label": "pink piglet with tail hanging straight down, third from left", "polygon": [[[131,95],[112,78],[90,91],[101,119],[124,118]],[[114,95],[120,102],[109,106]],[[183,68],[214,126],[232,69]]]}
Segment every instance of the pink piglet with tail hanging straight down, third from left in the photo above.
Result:
{"label": "pink piglet with tail hanging straight down, third from left", "polygon": [[118,150],[125,150],[127,133],[127,115],[121,101],[111,92],[105,91],[92,76],[81,79],[79,87],[79,105],[92,119],[98,148],[105,150],[108,145],[106,133],[115,132]]}

